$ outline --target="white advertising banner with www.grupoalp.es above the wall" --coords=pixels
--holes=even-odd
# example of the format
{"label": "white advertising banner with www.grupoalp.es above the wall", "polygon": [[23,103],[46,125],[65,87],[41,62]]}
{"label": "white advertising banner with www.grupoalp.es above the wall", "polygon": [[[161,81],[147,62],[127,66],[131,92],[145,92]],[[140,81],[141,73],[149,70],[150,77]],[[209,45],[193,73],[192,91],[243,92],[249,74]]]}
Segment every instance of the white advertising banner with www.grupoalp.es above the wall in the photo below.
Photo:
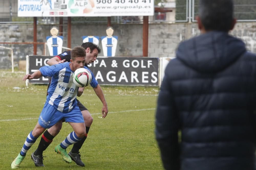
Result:
{"label": "white advertising banner with www.grupoalp.es above the wall", "polygon": [[18,0],[18,17],[153,15],[153,0]]}

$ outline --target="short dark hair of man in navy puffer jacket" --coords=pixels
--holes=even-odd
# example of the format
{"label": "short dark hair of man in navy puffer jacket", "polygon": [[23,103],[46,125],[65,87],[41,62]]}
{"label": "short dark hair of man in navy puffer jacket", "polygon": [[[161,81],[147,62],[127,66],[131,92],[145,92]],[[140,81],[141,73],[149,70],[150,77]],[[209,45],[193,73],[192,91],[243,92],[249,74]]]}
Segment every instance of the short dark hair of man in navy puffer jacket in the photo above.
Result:
{"label": "short dark hair of man in navy puffer jacket", "polygon": [[233,0],[200,0],[199,17],[206,31],[228,32],[233,21]]}

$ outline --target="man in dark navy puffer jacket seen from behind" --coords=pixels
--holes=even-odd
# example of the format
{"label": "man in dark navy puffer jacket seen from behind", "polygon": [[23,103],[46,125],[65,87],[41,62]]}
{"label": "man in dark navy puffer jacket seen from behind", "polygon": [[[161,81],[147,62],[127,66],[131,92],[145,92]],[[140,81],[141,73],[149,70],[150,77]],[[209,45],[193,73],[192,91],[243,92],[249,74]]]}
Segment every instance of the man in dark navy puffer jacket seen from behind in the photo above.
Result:
{"label": "man in dark navy puffer jacket seen from behind", "polygon": [[164,168],[255,169],[256,55],[228,34],[232,0],[201,0],[199,9],[202,34],[180,43],[157,101]]}

